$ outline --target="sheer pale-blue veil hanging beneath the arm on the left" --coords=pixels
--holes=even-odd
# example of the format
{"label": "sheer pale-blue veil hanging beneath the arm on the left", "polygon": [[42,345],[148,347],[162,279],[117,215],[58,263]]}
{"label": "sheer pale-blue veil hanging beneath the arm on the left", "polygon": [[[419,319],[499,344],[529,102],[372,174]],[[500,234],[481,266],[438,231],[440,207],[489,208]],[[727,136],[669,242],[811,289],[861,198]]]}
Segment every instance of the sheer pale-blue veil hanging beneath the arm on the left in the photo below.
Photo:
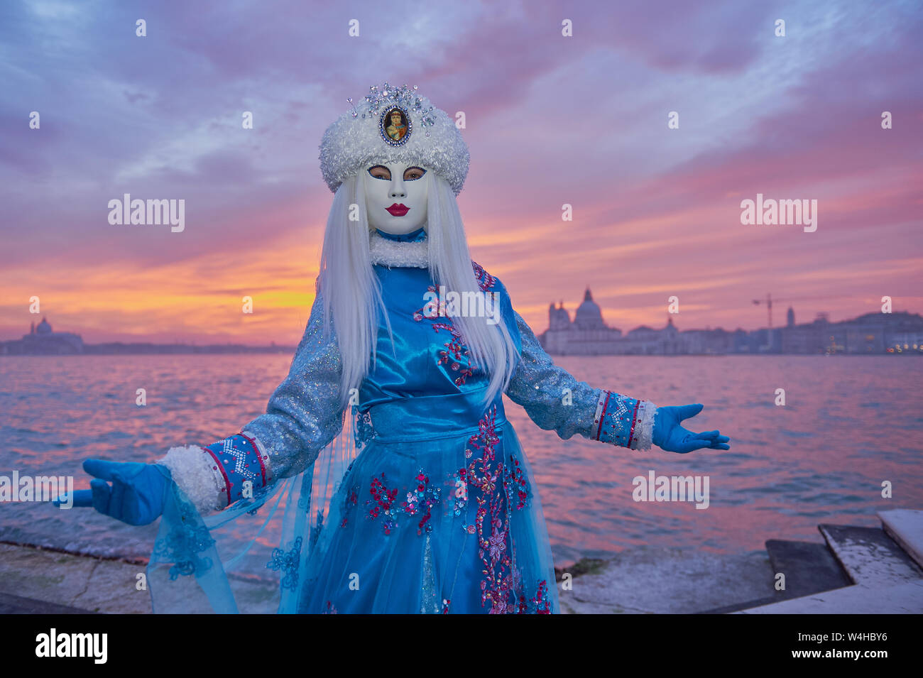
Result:
{"label": "sheer pale-blue veil hanging beneath the arm on the left", "polygon": [[147,580],[154,613],[295,613],[302,573],[356,455],[353,418],[302,473],[208,516],[167,489]]}

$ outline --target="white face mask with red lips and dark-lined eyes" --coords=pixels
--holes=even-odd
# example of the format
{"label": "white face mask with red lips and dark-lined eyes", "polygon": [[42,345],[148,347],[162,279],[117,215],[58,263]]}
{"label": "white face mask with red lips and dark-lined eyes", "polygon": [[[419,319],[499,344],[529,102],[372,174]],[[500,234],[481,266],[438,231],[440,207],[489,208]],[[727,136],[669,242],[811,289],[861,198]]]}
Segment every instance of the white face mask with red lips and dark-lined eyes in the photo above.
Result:
{"label": "white face mask with red lips and dark-lined eyes", "polygon": [[426,225],[429,172],[420,165],[376,164],[361,172],[366,183],[368,224],[393,235]]}

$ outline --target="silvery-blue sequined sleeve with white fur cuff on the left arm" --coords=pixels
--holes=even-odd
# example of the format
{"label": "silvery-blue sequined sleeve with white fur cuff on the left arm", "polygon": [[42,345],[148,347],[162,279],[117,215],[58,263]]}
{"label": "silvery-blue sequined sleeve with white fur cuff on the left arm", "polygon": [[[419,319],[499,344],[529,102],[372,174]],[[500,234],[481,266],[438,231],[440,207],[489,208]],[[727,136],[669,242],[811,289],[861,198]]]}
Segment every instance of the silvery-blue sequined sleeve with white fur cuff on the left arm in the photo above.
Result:
{"label": "silvery-blue sequined sleeve with white fur cuff on the left arm", "polygon": [[258,490],[296,475],[342,429],[341,373],[332,328],[324,335],[318,294],[289,374],[270,397],[266,413],[240,434],[210,446],[171,448],[159,463],[203,513],[233,504],[247,483]]}

